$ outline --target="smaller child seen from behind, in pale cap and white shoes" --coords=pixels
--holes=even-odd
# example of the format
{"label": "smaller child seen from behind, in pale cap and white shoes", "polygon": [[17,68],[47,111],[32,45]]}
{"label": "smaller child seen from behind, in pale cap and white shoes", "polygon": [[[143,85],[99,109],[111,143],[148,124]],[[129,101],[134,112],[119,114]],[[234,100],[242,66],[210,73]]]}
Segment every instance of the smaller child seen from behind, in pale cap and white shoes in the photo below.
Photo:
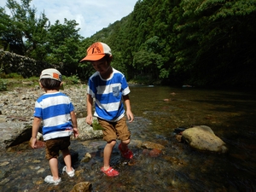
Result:
{"label": "smaller child seen from behind, in pale cap and white shoes", "polygon": [[57,185],[61,182],[58,172],[58,156],[61,150],[66,166],[62,172],[69,177],[74,176],[71,155],[68,149],[70,136],[79,136],[76,115],[69,97],[61,93],[61,73],[54,68],[45,69],[40,75],[40,86],[45,94],[39,96],[35,103],[34,120],[32,124],[32,148],[37,148],[38,129],[43,120],[43,137],[46,146],[46,159],[52,176],[44,178],[46,183]]}

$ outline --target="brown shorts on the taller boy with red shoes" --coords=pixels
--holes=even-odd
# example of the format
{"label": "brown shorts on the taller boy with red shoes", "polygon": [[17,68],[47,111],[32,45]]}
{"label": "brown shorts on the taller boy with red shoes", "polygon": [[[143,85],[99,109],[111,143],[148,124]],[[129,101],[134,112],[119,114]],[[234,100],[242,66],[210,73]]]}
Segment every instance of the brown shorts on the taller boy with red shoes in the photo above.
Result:
{"label": "brown shorts on the taller boy with red shoes", "polygon": [[119,119],[117,122],[110,122],[104,119],[99,119],[99,124],[102,125],[104,129],[103,139],[107,142],[111,142],[113,140],[119,139],[125,141],[130,139],[131,132],[128,130],[128,126],[126,125],[126,119],[123,117]]}

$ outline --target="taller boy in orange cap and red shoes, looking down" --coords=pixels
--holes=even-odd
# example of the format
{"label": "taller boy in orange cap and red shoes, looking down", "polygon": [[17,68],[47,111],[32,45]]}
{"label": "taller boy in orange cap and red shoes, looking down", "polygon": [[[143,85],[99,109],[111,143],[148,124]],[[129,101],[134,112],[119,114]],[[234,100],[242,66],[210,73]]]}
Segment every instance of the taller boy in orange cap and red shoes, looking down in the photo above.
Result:
{"label": "taller boy in orange cap and red shoes, looking down", "polygon": [[123,99],[127,118],[132,122],[133,114],[128,96],[130,89],[124,74],[110,66],[112,54],[108,44],[97,42],[90,45],[82,61],[90,61],[96,70],[88,83],[86,123],[92,124],[92,104],[95,98],[94,115],[104,129],[103,139],[107,142],[103,152],[104,166],[101,170],[108,177],[115,177],[119,175],[119,172],[114,170],[109,162],[117,138],[121,140],[119,151],[122,156],[125,159],[133,157],[131,150],[127,147],[130,143],[131,132],[126,125],[125,108],[122,102]]}

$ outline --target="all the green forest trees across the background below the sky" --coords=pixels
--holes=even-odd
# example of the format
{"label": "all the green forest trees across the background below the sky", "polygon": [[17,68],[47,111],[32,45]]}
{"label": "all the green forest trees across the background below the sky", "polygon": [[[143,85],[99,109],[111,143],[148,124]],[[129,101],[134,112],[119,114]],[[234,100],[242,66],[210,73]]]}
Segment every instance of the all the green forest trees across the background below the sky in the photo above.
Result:
{"label": "all the green forest trees across the background below the sky", "polygon": [[60,66],[65,75],[88,79],[94,70],[79,61],[102,41],[113,67],[134,82],[255,86],[255,0],[138,0],[130,15],[90,38],[79,35],[76,20],[37,18],[31,2],[7,0],[10,15],[0,8],[0,48]]}

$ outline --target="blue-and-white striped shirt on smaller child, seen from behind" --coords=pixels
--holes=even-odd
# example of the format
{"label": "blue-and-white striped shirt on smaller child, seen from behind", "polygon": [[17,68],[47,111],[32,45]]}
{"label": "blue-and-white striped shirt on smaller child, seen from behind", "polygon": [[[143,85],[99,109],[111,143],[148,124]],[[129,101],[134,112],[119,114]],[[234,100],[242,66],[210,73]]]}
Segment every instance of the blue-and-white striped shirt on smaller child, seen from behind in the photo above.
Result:
{"label": "blue-and-white striped shirt on smaller child, seen from behind", "polygon": [[38,98],[34,116],[43,119],[44,141],[73,134],[70,116],[73,110],[72,102],[64,93],[45,93]]}

